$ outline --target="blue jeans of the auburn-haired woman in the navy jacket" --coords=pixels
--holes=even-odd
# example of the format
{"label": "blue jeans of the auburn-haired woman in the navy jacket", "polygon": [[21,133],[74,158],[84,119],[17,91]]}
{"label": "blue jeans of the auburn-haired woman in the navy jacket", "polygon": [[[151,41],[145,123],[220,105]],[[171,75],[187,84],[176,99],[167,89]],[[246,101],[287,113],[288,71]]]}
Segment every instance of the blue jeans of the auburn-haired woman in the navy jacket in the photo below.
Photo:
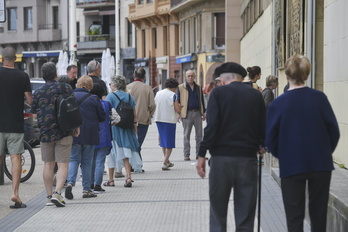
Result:
{"label": "blue jeans of the auburn-haired woman in the navy jacket", "polygon": [[91,190],[92,159],[95,145],[73,144],[70,154],[68,183],[76,184],[76,176],[81,164],[83,190]]}

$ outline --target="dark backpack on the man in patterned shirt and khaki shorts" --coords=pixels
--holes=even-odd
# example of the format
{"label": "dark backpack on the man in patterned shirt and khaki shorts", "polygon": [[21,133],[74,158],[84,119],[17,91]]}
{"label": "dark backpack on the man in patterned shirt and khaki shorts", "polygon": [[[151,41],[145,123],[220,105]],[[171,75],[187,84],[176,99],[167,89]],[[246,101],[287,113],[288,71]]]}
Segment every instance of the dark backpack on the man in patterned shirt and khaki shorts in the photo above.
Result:
{"label": "dark backpack on the man in patterned shirt and khaki shorts", "polygon": [[55,102],[56,119],[60,132],[72,132],[82,125],[79,105],[91,94],[86,94],[80,101],[67,93],[58,93]]}

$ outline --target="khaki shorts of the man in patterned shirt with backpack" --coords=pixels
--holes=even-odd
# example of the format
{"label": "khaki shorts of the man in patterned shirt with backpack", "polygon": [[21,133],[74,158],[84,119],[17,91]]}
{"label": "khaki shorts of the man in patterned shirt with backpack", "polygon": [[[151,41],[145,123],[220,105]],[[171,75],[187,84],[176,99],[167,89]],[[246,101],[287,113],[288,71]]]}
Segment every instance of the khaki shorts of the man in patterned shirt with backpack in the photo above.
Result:
{"label": "khaki shorts of the man in patterned shirt with backpack", "polygon": [[73,138],[66,136],[61,140],[40,143],[41,158],[44,162],[69,163]]}

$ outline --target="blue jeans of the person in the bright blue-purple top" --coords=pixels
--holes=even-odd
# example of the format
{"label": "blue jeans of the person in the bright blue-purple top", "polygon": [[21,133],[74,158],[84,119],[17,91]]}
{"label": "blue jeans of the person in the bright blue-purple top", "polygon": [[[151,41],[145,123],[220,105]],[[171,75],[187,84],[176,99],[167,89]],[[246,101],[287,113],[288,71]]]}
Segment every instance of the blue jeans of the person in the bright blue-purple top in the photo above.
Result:
{"label": "blue jeans of the person in the bright blue-purple top", "polygon": [[91,183],[101,185],[105,168],[106,156],[110,153],[110,147],[95,148],[92,160]]}

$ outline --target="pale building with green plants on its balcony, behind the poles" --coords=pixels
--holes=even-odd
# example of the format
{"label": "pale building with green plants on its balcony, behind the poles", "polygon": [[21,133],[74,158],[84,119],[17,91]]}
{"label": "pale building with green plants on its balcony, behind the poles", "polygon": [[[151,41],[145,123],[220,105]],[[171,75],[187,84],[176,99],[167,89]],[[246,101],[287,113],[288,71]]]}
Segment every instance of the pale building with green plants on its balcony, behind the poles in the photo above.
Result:
{"label": "pale building with green plants on its balcony, behind the poles", "polygon": [[116,35],[115,0],[76,0],[77,7],[77,56],[81,74],[86,74],[86,65],[96,59],[101,61],[102,53],[107,48],[116,56],[116,36],[119,38],[120,74],[128,82],[132,80],[135,60],[134,26],[128,20],[128,5],[132,0],[118,2],[118,35]]}

